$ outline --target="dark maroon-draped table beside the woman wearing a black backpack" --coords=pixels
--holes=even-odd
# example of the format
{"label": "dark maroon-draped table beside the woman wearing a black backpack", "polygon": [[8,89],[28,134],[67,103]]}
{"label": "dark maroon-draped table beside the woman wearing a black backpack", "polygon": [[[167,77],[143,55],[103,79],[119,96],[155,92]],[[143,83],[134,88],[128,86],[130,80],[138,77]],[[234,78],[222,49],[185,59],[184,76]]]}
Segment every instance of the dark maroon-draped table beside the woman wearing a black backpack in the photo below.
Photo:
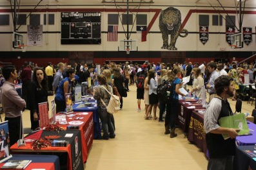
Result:
{"label": "dark maroon-draped table beside the woman wearing a black backpack", "polygon": [[[190,103],[190,104],[189,104]],[[196,103],[196,100],[189,101],[181,99],[179,100],[179,112],[177,117],[177,125],[183,130],[183,132],[188,133],[188,127],[190,124],[190,117],[194,109],[202,108],[201,104]],[[194,106],[193,108],[191,106]]]}

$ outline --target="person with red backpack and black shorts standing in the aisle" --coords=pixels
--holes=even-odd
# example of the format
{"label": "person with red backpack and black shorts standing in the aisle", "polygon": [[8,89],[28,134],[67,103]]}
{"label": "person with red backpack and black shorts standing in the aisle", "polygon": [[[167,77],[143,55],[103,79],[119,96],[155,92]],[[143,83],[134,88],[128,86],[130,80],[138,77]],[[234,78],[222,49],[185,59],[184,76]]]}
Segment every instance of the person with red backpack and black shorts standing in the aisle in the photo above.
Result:
{"label": "person with red backpack and black shorts standing in the aisle", "polygon": [[142,67],[143,71],[137,73],[137,104],[138,112],[141,112],[141,99],[144,99],[144,81],[146,79],[146,65]]}

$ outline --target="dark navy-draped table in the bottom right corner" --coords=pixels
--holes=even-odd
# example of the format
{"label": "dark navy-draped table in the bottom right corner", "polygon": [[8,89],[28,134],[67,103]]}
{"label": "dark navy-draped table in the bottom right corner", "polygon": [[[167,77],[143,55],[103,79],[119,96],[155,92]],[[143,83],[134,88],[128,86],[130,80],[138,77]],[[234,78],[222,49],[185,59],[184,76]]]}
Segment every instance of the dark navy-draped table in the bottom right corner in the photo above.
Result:
{"label": "dark navy-draped table in the bottom right corner", "polygon": [[234,170],[256,170],[256,153],[254,146],[237,146]]}

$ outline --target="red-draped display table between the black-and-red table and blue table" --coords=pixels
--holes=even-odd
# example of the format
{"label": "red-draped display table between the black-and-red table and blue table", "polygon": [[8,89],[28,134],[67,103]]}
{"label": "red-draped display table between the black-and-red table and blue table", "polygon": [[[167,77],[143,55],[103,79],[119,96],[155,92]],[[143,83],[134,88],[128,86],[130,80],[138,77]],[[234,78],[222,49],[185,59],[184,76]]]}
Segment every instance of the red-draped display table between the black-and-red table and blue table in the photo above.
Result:
{"label": "red-draped display table between the black-and-red table and blue table", "polygon": [[[76,114],[74,117],[66,117],[67,122],[74,121],[76,117],[83,117],[83,119],[79,119],[79,121],[83,121],[84,123],[79,126],[79,130],[81,132],[81,143],[82,143],[82,154],[83,154],[83,162],[86,162],[88,158],[88,152],[92,147],[92,142],[94,139],[94,123],[92,119],[92,112],[88,112],[87,115],[83,115],[81,112],[74,112]],[[59,124],[56,123],[58,126],[65,127],[69,124]]]}

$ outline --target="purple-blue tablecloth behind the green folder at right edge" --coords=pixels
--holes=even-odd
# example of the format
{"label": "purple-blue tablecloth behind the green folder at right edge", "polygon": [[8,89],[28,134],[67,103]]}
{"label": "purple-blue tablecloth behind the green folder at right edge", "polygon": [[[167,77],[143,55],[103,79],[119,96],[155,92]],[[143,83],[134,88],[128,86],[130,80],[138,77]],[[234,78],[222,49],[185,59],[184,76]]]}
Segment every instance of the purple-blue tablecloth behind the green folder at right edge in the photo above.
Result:
{"label": "purple-blue tablecloth behind the green folder at right edge", "polygon": [[249,121],[247,121],[247,124],[252,135],[236,137],[235,142],[237,146],[256,144],[256,124],[251,123]]}

